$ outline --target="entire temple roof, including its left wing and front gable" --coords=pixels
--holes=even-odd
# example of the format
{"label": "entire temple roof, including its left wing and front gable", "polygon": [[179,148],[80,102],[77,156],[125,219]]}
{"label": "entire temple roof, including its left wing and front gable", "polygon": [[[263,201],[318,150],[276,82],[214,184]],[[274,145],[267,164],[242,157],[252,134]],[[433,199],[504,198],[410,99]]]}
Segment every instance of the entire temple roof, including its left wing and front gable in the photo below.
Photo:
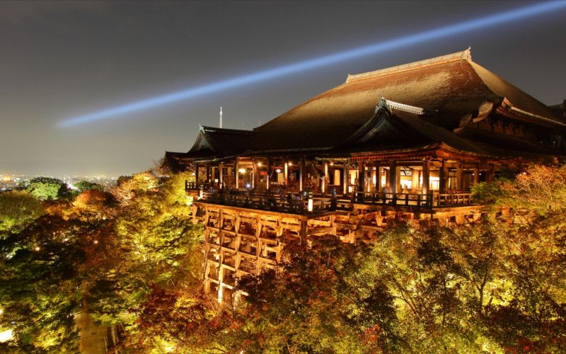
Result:
{"label": "entire temple roof, including its left wing and front gable", "polygon": [[[382,96],[422,108],[422,114],[393,110],[387,117],[378,116],[376,105]],[[348,76],[344,84],[253,131],[200,127],[195,144],[184,158],[219,159],[266,152],[337,152],[339,147],[408,148],[439,142],[477,154],[549,152],[536,142],[515,137],[499,135],[501,142],[509,143],[499,147],[490,144],[489,139],[478,137],[477,133],[471,134],[470,130],[459,129],[458,135],[454,134],[455,128],[472,118],[500,114],[495,113],[498,108],[507,119],[526,120],[547,129],[566,126],[565,120],[551,108],[472,62],[466,50]]]}

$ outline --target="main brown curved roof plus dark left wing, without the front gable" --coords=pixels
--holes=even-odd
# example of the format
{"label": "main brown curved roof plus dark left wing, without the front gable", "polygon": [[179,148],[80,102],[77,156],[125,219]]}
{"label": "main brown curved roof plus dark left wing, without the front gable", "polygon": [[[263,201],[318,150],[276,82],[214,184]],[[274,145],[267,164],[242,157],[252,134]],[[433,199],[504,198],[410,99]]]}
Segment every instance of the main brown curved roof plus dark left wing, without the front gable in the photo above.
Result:
{"label": "main brown curved roof plus dark left wing, without the front gable", "polygon": [[[381,97],[397,111],[416,113],[429,131],[453,131],[464,118],[496,109],[541,127],[563,128],[553,110],[476,64],[470,49],[374,72],[349,75],[344,84],[320,93],[253,131],[201,127],[187,158],[219,158],[247,152],[321,150],[342,146],[376,113]],[[407,108],[408,107],[408,108]],[[412,112],[418,108],[420,111]],[[403,113],[395,116],[404,118]],[[449,139],[447,135],[444,138]],[[453,138],[450,138],[453,139]],[[469,146],[464,139],[458,144]],[[456,142],[456,140],[454,140]],[[448,142],[446,142],[448,143]],[[475,150],[481,150],[475,147]]]}

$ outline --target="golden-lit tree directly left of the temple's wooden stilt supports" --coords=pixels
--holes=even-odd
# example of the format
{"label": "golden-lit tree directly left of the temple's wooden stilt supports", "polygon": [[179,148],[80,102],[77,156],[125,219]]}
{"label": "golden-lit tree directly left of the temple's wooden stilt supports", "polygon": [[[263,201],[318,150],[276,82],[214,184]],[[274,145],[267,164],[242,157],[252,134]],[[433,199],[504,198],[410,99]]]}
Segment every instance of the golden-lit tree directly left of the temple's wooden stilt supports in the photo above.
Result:
{"label": "golden-lit tree directly left of the temple's wooden stilt supports", "polygon": [[130,338],[148,343],[155,333],[142,331],[136,314],[153,287],[178,292],[202,285],[202,227],[192,224],[187,205],[174,202],[173,188],[156,185],[156,178],[144,174],[111,191],[121,203],[83,284],[95,319],[123,326]]}

